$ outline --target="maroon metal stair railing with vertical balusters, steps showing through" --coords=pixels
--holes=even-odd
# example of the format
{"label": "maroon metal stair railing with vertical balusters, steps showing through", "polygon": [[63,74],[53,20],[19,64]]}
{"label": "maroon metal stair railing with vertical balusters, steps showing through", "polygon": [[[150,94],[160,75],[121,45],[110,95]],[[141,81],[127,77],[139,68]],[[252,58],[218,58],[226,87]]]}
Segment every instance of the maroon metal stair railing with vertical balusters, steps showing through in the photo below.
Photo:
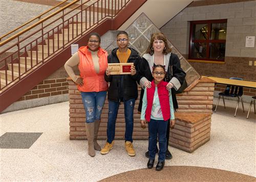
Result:
{"label": "maroon metal stair railing with vertical balusters, steps showing through", "polygon": [[[10,55],[0,61],[0,91],[14,85],[23,76],[45,64],[56,53],[75,42],[105,19],[114,19],[130,1],[88,0],[82,2],[82,0],[74,0],[29,28],[0,42],[0,46],[4,46],[11,40],[17,39],[13,45],[0,53],[0,55],[4,55],[12,51]],[[65,12],[67,8],[78,2],[80,2],[79,5]],[[53,19],[50,20],[50,18]],[[40,28],[37,28],[38,25]],[[36,30],[26,35],[33,28]]]}

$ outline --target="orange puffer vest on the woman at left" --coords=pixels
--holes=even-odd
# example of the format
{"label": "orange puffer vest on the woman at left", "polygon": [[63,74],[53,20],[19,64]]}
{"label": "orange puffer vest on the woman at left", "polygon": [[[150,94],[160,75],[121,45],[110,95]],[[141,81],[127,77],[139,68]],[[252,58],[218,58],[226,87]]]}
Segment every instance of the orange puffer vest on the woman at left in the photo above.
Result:
{"label": "orange puffer vest on the woman at left", "polygon": [[83,80],[82,86],[77,86],[82,92],[100,92],[108,90],[108,83],[104,79],[105,70],[108,67],[108,53],[99,47],[99,73],[96,73],[92,61],[92,54],[88,50],[88,46],[80,47],[79,55],[79,71]]}

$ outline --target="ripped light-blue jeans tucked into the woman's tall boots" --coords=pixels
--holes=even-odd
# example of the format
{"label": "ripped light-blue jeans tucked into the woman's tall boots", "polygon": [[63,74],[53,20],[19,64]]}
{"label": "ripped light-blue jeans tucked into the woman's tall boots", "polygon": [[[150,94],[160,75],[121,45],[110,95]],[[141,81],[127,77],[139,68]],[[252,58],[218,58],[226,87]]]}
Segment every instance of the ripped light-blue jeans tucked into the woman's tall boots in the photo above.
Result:
{"label": "ripped light-blue jeans tucked into the woman's tall boots", "polygon": [[100,115],[106,98],[106,91],[81,92],[83,108],[86,111],[86,122],[100,120]]}

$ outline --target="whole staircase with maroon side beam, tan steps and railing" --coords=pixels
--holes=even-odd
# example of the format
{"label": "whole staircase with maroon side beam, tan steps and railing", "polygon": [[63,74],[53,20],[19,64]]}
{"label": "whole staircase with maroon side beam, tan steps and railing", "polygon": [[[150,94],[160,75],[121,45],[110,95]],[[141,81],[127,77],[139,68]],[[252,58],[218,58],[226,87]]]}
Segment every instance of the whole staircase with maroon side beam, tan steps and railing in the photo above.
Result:
{"label": "whole staircase with maroon side beam, tan steps and railing", "polygon": [[[0,112],[61,67],[71,56],[71,44],[86,45],[88,35],[117,30],[145,0],[74,0],[26,30],[0,42]],[[75,6],[67,12],[67,8]],[[49,23],[49,20],[51,22]],[[46,22],[48,24],[46,24]],[[38,25],[40,28],[38,29]],[[10,41],[15,43],[6,48]]]}

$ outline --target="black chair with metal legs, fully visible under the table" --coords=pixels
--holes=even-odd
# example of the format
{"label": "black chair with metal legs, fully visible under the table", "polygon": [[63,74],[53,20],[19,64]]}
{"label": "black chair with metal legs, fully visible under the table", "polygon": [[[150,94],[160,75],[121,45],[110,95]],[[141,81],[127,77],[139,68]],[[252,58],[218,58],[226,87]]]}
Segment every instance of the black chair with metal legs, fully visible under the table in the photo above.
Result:
{"label": "black chair with metal legs, fully visible under the table", "polygon": [[[230,77],[229,79],[231,79],[231,80],[243,80],[243,79],[241,79],[239,77]],[[219,93],[219,98],[218,98],[218,101],[217,101],[215,112],[216,112],[217,107],[219,105],[219,101],[220,101],[221,96],[223,98],[224,108],[226,108],[224,97],[238,97],[238,103],[237,103],[236,112],[234,112],[234,117],[236,117],[237,110],[238,110],[238,105],[239,105],[239,102],[240,102],[240,98],[241,98],[241,102],[242,102],[242,106],[243,106],[243,111],[244,111],[244,103],[243,103],[242,95],[243,95],[243,87],[242,86],[230,86],[230,85],[227,85],[226,90],[224,92]]]}

